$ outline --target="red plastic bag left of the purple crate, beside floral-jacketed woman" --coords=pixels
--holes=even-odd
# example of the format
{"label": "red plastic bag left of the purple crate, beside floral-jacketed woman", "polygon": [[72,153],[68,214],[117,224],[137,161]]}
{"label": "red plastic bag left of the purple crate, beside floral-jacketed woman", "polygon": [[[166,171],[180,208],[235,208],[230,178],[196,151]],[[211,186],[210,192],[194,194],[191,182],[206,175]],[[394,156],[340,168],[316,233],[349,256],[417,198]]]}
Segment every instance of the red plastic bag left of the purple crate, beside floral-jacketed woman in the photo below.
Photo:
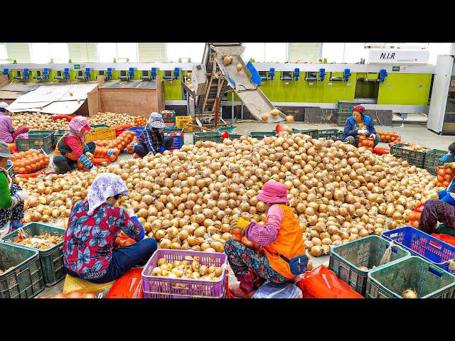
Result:
{"label": "red plastic bag left of the purple crate, beside floral-jacketed woman", "polygon": [[115,281],[106,298],[142,298],[142,268],[129,269]]}

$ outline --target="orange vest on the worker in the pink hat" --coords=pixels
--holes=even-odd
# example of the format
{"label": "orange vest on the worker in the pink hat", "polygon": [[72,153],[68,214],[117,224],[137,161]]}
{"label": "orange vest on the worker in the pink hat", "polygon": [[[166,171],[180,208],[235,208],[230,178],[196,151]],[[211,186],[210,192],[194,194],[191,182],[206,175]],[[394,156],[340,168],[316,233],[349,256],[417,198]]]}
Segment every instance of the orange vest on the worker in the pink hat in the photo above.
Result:
{"label": "orange vest on the worker in the pink hat", "polygon": [[284,261],[279,254],[287,259],[305,254],[304,238],[301,235],[301,229],[297,216],[291,207],[279,205],[283,211],[282,224],[279,227],[277,239],[272,244],[264,247],[264,254],[267,256],[270,267],[287,278],[294,278],[291,273],[289,264]]}

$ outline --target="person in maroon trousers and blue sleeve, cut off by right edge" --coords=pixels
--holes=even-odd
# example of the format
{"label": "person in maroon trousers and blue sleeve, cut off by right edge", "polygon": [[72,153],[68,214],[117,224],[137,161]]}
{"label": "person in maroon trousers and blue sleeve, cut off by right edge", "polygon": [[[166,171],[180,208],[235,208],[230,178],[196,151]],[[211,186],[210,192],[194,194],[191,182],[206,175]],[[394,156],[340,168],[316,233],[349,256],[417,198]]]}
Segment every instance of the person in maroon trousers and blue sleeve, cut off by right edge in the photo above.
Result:
{"label": "person in maroon trousers and blue sleeve, cut off by right edge", "polygon": [[[449,153],[440,159],[445,167],[455,168],[455,142],[449,146]],[[437,233],[438,222],[455,232],[455,178],[445,190],[437,193],[438,198],[424,203],[418,229],[427,233]],[[444,232],[445,233],[445,232]]]}

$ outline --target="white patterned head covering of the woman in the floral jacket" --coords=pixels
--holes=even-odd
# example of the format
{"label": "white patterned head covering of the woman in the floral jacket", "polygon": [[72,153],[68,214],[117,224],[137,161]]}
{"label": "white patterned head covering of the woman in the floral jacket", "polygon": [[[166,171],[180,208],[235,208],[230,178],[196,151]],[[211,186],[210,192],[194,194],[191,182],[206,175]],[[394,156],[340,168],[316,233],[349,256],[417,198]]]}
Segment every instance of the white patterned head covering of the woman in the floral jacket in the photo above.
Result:
{"label": "white patterned head covering of the woman in the floral jacket", "polygon": [[122,178],[112,173],[101,173],[93,180],[88,190],[88,214],[92,215],[93,211],[106,202],[108,197],[114,195],[128,195],[128,188]]}

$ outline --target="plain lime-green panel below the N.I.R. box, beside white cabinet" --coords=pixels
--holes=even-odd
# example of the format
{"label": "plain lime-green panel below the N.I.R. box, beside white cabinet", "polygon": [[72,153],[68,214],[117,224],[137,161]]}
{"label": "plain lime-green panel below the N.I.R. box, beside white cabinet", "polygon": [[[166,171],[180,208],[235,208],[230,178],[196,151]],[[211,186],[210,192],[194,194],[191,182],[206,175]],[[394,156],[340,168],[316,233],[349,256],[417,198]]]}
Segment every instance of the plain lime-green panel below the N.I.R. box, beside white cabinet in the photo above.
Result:
{"label": "plain lime-green panel below the N.I.R. box, beside white cabinet", "polygon": [[389,73],[379,86],[378,104],[427,105],[432,75]]}

